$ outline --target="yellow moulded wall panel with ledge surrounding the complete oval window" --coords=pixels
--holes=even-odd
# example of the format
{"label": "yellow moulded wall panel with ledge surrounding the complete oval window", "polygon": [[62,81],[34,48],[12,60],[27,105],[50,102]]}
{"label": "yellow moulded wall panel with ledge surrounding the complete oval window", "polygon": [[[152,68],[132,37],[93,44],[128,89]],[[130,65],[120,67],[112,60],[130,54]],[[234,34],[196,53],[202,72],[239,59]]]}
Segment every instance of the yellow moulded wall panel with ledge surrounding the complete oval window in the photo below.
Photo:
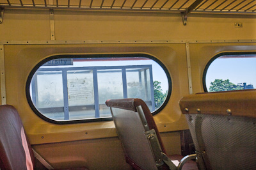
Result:
{"label": "yellow moulded wall panel with ledge surrounding the complete oval window", "polygon": [[[20,112],[24,127],[32,144],[76,141],[116,136],[112,121],[74,125],[47,123],[31,110],[26,99],[26,80],[33,67],[47,56],[56,54],[124,54],[145,53],[165,63],[173,81],[170,102],[155,116],[163,132],[188,128],[181,117],[179,99],[188,94],[186,52],[184,44],[140,44],[138,45],[6,45],[6,95],[7,104],[14,105]],[[97,51],[97,53],[95,53]],[[20,72],[22,70],[22,72]],[[188,79],[186,79],[188,80]],[[163,125],[164,124],[164,125]],[[65,127],[65,128],[63,128]],[[88,132],[87,134],[85,132]]]}

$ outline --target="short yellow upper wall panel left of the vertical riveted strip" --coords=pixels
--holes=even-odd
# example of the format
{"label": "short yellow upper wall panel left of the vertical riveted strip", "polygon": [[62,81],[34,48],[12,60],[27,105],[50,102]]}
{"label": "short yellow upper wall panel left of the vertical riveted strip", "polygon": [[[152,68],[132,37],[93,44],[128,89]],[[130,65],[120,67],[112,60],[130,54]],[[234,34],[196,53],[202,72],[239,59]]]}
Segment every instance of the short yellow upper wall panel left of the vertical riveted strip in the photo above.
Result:
{"label": "short yellow upper wall panel left of the vertical riveted strip", "polygon": [[0,41],[49,39],[49,10],[4,10]]}

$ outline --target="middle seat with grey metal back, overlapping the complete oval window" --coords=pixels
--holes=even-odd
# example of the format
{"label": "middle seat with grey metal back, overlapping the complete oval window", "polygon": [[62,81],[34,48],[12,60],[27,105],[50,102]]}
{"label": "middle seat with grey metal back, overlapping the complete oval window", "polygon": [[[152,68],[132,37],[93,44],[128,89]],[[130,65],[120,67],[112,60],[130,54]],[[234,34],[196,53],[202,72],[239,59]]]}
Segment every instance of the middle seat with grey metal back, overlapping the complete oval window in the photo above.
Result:
{"label": "middle seat with grey metal back, overlapping the complete oval window", "polygon": [[195,154],[184,158],[166,156],[154,118],[143,100],[107,100],[106,105],[110,107],[126,162],[133,169],[181,169],[183,165],[183,169],[198,169],[196,162],[190,160],[196,158]]}

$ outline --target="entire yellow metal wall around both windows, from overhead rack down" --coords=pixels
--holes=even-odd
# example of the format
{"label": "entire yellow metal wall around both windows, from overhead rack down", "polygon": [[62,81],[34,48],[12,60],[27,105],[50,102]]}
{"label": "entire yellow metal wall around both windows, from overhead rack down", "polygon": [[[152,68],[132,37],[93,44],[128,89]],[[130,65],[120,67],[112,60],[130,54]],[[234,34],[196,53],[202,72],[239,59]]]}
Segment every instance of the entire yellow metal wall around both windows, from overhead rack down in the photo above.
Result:
{"label": "entire yellow metal wall around both windows, from overhead rack down", "polygon": [[[237,22],[242,22],[243,27],[234,27]],[[1,47],[4,46],[6,103],[18,109],[33,148],[55,168],[72,164],[102,169],[100,166],[106,164],[113,169],[129,169],[112,121],[54,125],[31,110],[26,99],[26,80],[42,59],[56,54],[124,53],[150,54],[159,59],[172,77],[172,96],[154,118],[160,132],[168,132],[161,134],[168,151],[179,153],[179,132],[173,131],[188,129],[179,108],[180,98],[189,94],[186,43],[189,42],[193,93],[203,91],[204,68],[214,55],[256,51],[254,15],[191,13],[185,27],[179,13],[54,10],[55,40],[51,40],[50,27],[49,10],[8,8],[4,10],[4,22],[0,25],[0,42],[4,43]],[[170,135],[170,132],[175,134]],[[68,154],[72,156],[65,157]],[[107,162],[110,157],[116,158],[117,163]]]}

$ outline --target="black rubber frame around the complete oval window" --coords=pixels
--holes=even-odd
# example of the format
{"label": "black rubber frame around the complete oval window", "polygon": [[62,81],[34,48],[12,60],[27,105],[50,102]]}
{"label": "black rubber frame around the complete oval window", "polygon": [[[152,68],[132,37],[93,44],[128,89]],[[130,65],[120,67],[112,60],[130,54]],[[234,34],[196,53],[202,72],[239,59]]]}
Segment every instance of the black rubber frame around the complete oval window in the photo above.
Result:
{"label": "black rubber frame around the complete oval window", "polygon": [[[163,104],[161,105],[161,107],[159,107],[159,109],[157,109],[156,111],[152,112],[152,115],[156,115],[158,112],[160,112],[161,110],[163,110],[163,108],[166,106],[166,104],[168,103],[168,101],[170,100],[170,96],[172,93],[172,79],[170,77],[170,73],[168,72],[167,68],[163,65],[163,63],[161,63],[161,61],[159,61],[159,59],[154,58],[153,56],[150,56],[148,54],[61,54],[61,55],[54,55],[54,56],[50,56],[49,58],[45,58],[42,61],[40,61],[29,73],[28,79],[26,81],[26,98],[28,100],[28,104],[31,107],[31,109],[33,110],[33,112],[35,112],[35,114],[37,116],[39,116],[40,118],[42,118],[42,120],[45,120],[49,123],[54,123],[54,124],[58,124],[58,125],[64,125],[64,124],[72,124],[72,123],[88,123],[88,122],[99,122],[99,121],[111,121],[112,118],[88,118],[88,119],[84,119],[84,120],[52,120],[50,118],[47,118],[46,116],[44,116],[44,114],[42,114],[40,111],[38,111],[38,109],[36,109],[35,105],[33,104],[33,99],[31,98],[30,95],[30,83],[32,81],[33,75],[36,73],[36,70],[38,70],[38,68],[40,68],[40,66],[44,65],[44,63],[47,63],[47,61],[50,61],[52,59],[60,59],[60,58],[134,58],[134,57],[139,57],[139,58],[148,58],[148,59],[152,59],[153,61],[156,61],[156,63],[158,65],[160,65],[164,72],[166,73],[166,77],[168,80],[168,95],[166,97],[166,99],[164,100]],[[154,103],[153,103],[154,104]]]}

